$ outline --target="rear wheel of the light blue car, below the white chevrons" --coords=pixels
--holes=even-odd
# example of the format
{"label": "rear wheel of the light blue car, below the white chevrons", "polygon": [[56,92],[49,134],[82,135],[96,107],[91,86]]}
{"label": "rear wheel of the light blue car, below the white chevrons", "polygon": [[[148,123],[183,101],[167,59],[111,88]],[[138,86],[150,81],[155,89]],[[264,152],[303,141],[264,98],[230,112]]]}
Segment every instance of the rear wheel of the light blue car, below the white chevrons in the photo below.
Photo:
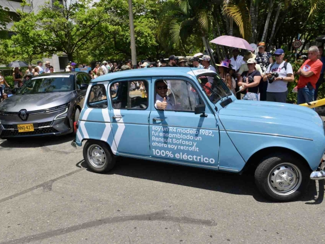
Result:
{"label": "rear wheel of the light blue car, below the white chevrons", "polygon": [[[91,152],[99,156],[100,161],[91,156]],[[110,171],[114,166],[116,159],[109,149],[108,145],[103,141],[87,140],[83,148],[83,158],[89,168],[96,173],[105,173]]]}

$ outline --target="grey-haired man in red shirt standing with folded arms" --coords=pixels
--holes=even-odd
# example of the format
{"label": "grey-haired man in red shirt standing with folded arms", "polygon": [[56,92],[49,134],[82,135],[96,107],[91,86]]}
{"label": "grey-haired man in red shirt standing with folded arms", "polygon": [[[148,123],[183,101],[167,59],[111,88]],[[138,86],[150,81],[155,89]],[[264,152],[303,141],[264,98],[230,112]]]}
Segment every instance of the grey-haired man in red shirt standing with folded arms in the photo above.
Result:
{"label": "grey-haired man in red shirt standing with folded arms", "polygon": [[311,46],[308,49],[308,59],[298,70],[298,104],[314,101],[315,88],[319,79],[323,63],[318,59],[318,47]]}

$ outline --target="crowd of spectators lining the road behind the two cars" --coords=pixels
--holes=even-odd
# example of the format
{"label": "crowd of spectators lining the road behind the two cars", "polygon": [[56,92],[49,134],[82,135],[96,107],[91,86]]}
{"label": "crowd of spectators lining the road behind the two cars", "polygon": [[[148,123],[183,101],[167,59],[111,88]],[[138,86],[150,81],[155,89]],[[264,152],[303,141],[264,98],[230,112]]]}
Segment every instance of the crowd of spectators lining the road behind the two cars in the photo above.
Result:
{"label": "crowd of spectators lining the road behind the two cars", "polygon": [[[193,67],[199,69],[208,69],[217,72],[229,89],[237,96],[237,99],[260,100],[270,102],[285,103],[288,95],[288,82],[294,82],[294,71],[290,63],[285,61],[283,49],[277,49],[270,53],[266,51],[265,42],[258,43],[258,51],[251,51],[240,55],[238,48],[232,49],[232,57],[225,58],[220,64],[217,64],[217,70],[210,64],[211,57],[203,53],[194,54],[190,58],[177,57],[171,55],[168,59],[161,58],[156,62],[142,60],[138,63],[138,69],[153,67]],[[273,59],[274,57],[274,59]],[[33,69],[28,66],[25,74],[22,74],[18,67],[13,70],[13,80],[15,88],[19,88],[26,80],[32,76],[43,73],[54,73],[54,68],[49,61],[37,62]],[[75,71],[77,64],[69,62],[66,72]],[[88,67],[86,64],[80,64],[78,68]],[[111,72],[132,70],[132,60],[125,62],[112,63],[104,60],[96,63],[95,68],[88,73],[94,79],[98,76]],[[317,100],[318,88],[324,82],[325,57],[323,56],[323,47],[312,46],[308,49],[308,59],[298,70],[298,85],[293,92],[298,93],[298,104],[309,103]],[[9,87],[4,76],[0,72],[0,92],[3,93],[5,87]],[[2,94],[0,94],[2,95]]]}

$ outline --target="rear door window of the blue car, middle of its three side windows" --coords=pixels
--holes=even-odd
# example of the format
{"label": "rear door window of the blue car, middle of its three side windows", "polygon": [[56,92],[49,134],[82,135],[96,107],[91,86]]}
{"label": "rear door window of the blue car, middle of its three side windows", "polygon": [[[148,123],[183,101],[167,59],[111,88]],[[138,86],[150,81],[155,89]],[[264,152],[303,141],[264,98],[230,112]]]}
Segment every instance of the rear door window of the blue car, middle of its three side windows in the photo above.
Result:
{"label": "rear door window of the blue car, middle of its three side windows", "polygon": [[120,81],[112,83],[110,95],[115,109],[139,109],[148,107],[148,81]]}

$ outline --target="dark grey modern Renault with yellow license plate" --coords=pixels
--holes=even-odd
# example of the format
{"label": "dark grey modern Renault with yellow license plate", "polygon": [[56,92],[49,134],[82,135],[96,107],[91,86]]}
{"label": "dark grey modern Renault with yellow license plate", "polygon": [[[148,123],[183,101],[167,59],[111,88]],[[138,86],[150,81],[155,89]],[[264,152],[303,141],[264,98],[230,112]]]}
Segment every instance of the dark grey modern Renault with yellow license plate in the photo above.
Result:
{"label": "dark grey modern Renault with yellow license plate", "polygon": [[76,132],[91,77],[82,72],[42,74],[0,103],[0,138]]}

